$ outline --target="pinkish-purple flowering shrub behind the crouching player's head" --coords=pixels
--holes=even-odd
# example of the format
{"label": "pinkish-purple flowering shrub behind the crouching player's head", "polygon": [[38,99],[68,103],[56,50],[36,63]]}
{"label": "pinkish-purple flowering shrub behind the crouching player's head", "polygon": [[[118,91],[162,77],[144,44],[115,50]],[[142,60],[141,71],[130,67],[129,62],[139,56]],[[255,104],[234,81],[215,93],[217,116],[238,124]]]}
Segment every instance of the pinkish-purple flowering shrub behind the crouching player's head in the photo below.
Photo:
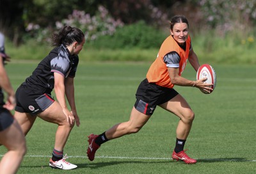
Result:
{"label": "pinkish-purple flowering shrub behind the crouching player's head", "polygon": [[86,42],[96,40],[99,36],[113,35],[116,28],[122,28],[124,23],[121,20],[115,20],[109,15],[108,10],[99,6],[96,15],[91,16],[84,11],[74,10],[68,15],[67,19],[56,22],[54,28],[40,28],[38,24],[28,24],[26,31],[30,36],[36,38],[37,42],[50,42],[49,36],[52,31],[59,30],[63,26],[72,26],[81,29],[84,32]]}

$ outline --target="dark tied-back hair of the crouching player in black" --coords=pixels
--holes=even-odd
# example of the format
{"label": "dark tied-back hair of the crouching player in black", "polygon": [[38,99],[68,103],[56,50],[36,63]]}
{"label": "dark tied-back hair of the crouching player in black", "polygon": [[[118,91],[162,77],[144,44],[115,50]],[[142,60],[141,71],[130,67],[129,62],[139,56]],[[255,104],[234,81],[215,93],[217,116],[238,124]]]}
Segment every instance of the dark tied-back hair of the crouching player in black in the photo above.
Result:
{"label": "dark tied-back hair of the crouching player in black", "polygon": [[52,35],[52,46],[70,45],[73,42],[83,42],[84,33],[78,28],[65,26],[59,33]]}

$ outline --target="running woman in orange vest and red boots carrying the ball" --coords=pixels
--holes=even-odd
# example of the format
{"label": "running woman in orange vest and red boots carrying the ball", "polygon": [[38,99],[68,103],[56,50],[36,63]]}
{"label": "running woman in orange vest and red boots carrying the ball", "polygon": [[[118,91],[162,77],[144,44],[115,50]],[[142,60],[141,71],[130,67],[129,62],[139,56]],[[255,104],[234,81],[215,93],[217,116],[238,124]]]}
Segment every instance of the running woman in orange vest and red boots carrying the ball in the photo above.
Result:
{"label": "running woman in orange vest and red boots carrying the ball", "polygon": [[188,102],[173,89],[173,86],[191,86],[210,92],[212,89],[207,86],[212,84],[205,84],[205,79],[190,81],[181,77],[187,60],[196,71],[200,67],[198,58],[191,46],[191,39],[188,34],[189,24],[186,17],[182,15],[172,17],[170,32],[172,35],[168,36],[161,45],[156,60],[148,70],[147,78],[138,87],[137,100],[132,108],[130,120],[118,123],[100,135],[90,134],[88,136],[87,155],[90,161],[93,161],[95,152],[102,143],[109,139],[140,131],[154,113],[156,106],[160,106],[180,118],[172,158],[177,161],[184,161],[187,164],[196,163],[195,159],[190,158],[184,152],[184,145],[195,114],[189,107]]}

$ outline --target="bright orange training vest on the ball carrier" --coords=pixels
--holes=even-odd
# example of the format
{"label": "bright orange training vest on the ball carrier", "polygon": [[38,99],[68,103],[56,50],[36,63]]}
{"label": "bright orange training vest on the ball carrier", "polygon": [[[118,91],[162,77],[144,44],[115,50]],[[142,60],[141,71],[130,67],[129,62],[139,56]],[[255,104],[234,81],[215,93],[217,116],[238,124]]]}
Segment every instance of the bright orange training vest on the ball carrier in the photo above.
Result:
{"label": "bright orange training vest on the ball carrier", "polygon": [[179,44],[173,39],[172,36],[168,36],[168,38],[166,38],[166,40],[164,40],[164,42],[162,43],[156,60],[148,69],[148,82],[156,83],[157,85],[166,88],[173,88],[174,84],[171,83],[170,76],[168,74],[168,67],[166,67],[166,63],[164,63],[163,58],[166,54],[170,52],[177,52],[180,56],[179,75],[181,75],[187,64],[190,47],[190,36],[188,36],[188,39],[186,40],[186,51],[184,51],[179,46]]}

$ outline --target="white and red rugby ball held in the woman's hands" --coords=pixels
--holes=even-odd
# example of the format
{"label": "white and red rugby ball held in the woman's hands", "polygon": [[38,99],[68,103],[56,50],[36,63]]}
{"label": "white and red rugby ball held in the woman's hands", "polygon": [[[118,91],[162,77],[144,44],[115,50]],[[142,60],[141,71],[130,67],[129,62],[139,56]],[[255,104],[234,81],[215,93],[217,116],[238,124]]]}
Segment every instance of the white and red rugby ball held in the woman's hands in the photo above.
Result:
{"label": "white and red rugby ball held in the woman's hands", "polygon": [[[213,91],[216,86],[216,74],[214,69],[209,64],[201,65],[196,72],[196,80],[203,79],[205,77],[207,77],[207,80],[204,81],[204,83],[213,84],[212,86],[209,86],[210,88],[212,88]],[[202,93],[208,93],[207,91],[204,91],[202,89],[200,89],[200,91],[202,91]],[[212,93],[212,91],[210,93]]]}

